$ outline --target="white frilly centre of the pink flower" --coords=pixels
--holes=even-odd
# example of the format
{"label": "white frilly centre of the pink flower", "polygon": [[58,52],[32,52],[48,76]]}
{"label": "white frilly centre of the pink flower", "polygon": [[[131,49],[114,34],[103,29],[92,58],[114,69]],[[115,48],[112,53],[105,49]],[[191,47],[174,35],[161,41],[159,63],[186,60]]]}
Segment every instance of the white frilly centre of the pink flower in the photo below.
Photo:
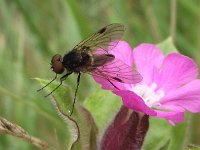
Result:
{"label": "white frilly centre of the pink flower", "polygon": [[138,83],[132,88],[132,91],[142,97],[147,106],[153,107],[159,105],[159,100],[165,95],[163,90],[157,90],[156,88],[156,83],[151,85]]}

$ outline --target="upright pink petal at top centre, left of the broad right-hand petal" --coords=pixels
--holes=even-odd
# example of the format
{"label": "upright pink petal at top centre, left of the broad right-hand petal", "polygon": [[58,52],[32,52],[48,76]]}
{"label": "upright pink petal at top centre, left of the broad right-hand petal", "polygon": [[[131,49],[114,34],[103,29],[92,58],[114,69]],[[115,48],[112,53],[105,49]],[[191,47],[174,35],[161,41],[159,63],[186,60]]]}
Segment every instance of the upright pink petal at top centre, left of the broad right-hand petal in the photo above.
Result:
{"label": "upright pink petal at top centre, left of the broad right-hand petal", "polygon": [[147,84],[152,82],[154,68],[159,68],[164,59],[160,49],[153,44],[140,44],[134,49],[133,57],[143,82]]}

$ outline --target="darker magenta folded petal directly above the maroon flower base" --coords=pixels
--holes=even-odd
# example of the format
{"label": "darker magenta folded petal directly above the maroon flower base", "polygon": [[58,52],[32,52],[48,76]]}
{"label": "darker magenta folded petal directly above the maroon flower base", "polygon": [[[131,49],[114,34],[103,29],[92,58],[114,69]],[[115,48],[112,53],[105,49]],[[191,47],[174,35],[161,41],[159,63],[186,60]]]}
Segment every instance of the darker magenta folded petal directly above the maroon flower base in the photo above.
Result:
{"label": "darker magenta folded petal directly above the maroon flower base", "polygon": [[141,97],[139,97],[134,92],[127,90],[120,90],[120,91],[113,91],[113,93],[122,97],[123,104],[127,108],[130,108],[134,111],[143,112],[151,116],[156,115],[156,112],[151,108],[149,108],[141,99]]}

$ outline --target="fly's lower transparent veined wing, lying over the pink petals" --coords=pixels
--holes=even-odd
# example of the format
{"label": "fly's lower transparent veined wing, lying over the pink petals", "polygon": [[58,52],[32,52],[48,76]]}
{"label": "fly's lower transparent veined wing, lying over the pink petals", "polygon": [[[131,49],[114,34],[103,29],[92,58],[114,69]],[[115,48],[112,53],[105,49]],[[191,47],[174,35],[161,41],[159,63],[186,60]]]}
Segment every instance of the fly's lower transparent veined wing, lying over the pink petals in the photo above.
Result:
{"label": "fly's lower transparent veined wing, lying over the pink petals", "polygon": [[135,84],[142,80],[142,76],[136,70],[116,58],[94,69],[92,75],[128,84]]}

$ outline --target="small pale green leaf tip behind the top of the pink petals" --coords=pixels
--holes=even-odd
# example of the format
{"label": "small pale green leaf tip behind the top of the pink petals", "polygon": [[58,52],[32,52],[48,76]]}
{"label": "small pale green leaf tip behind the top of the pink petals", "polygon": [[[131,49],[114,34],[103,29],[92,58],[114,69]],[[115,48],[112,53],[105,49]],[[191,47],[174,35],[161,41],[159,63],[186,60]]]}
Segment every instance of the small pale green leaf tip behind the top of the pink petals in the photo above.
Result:
{"label": "small pale green leaf tip behind the top of the pink petals", "polygon": [[167,38],[161,43],[158,43],[157,46],[164,52],[164,54],[178,52],[171,37]]}

